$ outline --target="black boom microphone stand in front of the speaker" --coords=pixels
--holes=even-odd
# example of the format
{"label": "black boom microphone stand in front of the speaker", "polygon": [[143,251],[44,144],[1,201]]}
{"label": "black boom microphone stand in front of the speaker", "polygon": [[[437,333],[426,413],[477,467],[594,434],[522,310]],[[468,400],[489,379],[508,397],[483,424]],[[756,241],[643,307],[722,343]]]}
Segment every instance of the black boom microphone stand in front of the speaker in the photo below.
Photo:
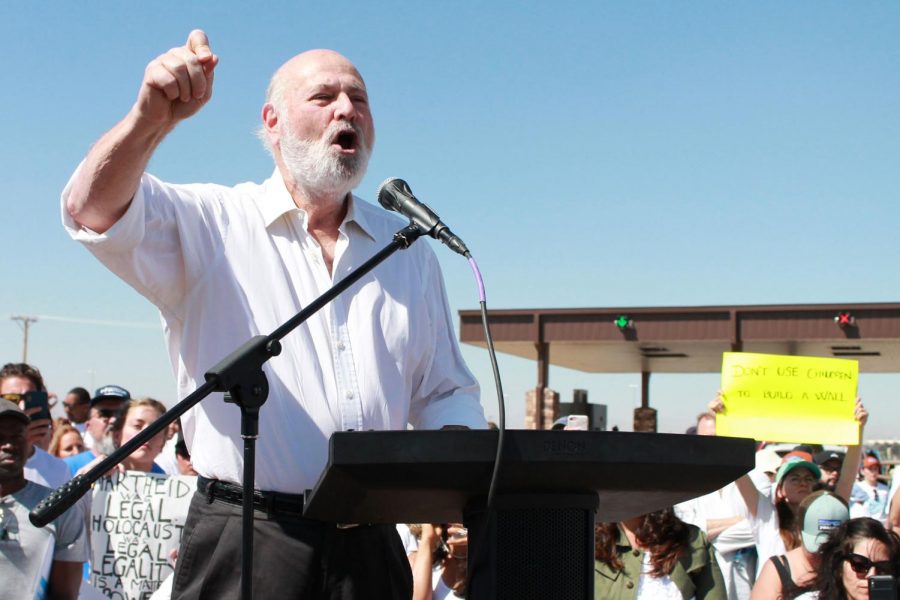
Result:
{"label": "black boom microphone stand in front of the speaker", "polygon": [[259,409],[269,394],[269,382],[262,370],[263,364],[281,354],[281,340],[309,319],[323,306],[331,302],[363,275],[374,269],[387,257],[400,249],[409,248],[414,241],[428,231],[410,222],[394,234],[394,238],[372,258],[357,267],[347,277],[334,284],[296,315],[288,319],[269,335],[257,335],[222,359],[204,374],[206,380],[181,402],[148,425],[143,431],[123,444],[119,449],[99,462],[83,475],[76,475],[44,498],[29,514],[32,524],[44,527],[87,493],[95,481],[143,446],[169,423],[183,415],[192,406],[212,392],[226,392],[225,401],[237,404],[241,409],[241,438],[244,440],[244,482],[242,502],[241,549],[241,598],[251,600],[253,590],[253,491],[256,477],[256,438],[259,435]]}

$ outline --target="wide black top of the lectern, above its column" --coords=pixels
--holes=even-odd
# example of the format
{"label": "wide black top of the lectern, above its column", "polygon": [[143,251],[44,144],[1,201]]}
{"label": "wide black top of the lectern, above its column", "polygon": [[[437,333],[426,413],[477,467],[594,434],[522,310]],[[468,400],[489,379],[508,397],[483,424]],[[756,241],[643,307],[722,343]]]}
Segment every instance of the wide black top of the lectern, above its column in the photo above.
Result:
{"label": "wide black top of the lectern, above its column", "polygon": [[[487,496],[496,431],[339,432],[305,516],[342,523],[461,522]],[[723,487],[754,466],[744,438],[509,430],[497,493],[596,492],[621,521]]]}

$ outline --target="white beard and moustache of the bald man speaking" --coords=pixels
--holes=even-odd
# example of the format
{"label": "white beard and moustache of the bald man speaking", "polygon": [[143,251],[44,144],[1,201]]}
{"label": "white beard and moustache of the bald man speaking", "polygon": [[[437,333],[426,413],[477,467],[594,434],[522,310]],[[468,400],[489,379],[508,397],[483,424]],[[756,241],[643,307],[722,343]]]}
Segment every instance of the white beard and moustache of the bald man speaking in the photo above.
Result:
{"label": "white beard and moustache of the bald man speaking", "polygon": [[[342,156],[331,148],[339,131],[356,132],[356,154]],[[304,140],[287,127],[280,132],[281,159],[297,184],[314,195],[343,200],[362,181],[371,151],[363,132],[352,124],[333,123],[318,140]]]}

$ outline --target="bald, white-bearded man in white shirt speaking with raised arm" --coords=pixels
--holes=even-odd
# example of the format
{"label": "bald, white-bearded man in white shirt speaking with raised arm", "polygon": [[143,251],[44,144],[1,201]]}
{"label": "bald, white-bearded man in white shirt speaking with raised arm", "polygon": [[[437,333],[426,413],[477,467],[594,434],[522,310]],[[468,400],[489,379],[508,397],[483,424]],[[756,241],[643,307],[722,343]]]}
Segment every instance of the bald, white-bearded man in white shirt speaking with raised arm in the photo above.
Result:
{"label": "bald, white-bearded man in white shirt speaking with raised arm", "polygon": [[[272,77],[259,129],[275,162],[268,179],[175,185],[146,173],[166,135],[210,101],[219,62],[199,30],[151,61],[137,101],[62,195],[69,234],[159,309],[179,398],[405,225],[351,193],[375,127],[362,76],[330,50],[299,54]],[[393,526],[338,527],[300,513],[334,431],[486,426],[430,247],[415,244],[363,277],[287,336],[264,370],[254,595],[409,598],[409,562]],[[240,411],[210,397],[183,428],[200,478],[173,597],[237,598]]]}

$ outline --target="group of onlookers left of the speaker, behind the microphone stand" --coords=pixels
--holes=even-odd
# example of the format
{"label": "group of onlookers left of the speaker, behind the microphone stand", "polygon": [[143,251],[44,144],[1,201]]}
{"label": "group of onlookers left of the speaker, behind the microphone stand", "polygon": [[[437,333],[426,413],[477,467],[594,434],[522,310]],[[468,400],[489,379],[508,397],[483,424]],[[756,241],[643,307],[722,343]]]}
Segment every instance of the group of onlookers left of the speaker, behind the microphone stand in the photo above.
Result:
{"label": "group of onlookers left of the speaker, behind the microphone stand", "polygon": [[[91,495],[45,528],[33,526],[28,514],[52,489],[87,472],[157,419],[165,406],[152,398],[132,399],[120,386],[103,386],[93,396],[75,388],[63,401],[66,416],[49,420],[32,418],[39,412],[26,408],[32,392],[46,392],[37,368],[8,363],[0,369],[0,598],[101,597],[87,584]],[[119,469],[196,475],[176,432],[177,426],[155,436]],[[164,470],[156,461],[170,466]]]}

